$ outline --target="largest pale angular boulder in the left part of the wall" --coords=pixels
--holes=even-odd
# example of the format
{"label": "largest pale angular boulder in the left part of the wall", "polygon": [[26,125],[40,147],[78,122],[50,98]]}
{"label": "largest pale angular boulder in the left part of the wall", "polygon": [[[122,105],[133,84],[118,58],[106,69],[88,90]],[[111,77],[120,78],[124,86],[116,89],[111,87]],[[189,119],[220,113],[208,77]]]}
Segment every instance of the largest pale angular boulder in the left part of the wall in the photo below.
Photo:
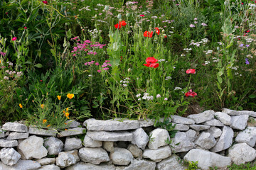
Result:
{"label": "largest pale angular boulder in the left part of the wall", "polygon": [[46,157],[48,151],[43,147],[43,138],[35,135],[28,137],[18,145],[18,152],[22,159],[41,159]]}

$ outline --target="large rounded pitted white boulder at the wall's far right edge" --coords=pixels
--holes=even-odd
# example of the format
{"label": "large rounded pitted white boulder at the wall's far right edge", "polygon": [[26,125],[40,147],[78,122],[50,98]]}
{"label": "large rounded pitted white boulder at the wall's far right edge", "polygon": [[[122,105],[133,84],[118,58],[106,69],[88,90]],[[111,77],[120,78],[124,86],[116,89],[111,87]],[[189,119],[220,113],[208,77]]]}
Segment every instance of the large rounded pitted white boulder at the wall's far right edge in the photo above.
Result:
{"label": "large rounded pitted white boulder at the wall's far right edge", "polygon": [[230,157],[235,164],[245,164],[255,159],[256,151],[246,143],[239,143],[228,149],[228,157]]}

